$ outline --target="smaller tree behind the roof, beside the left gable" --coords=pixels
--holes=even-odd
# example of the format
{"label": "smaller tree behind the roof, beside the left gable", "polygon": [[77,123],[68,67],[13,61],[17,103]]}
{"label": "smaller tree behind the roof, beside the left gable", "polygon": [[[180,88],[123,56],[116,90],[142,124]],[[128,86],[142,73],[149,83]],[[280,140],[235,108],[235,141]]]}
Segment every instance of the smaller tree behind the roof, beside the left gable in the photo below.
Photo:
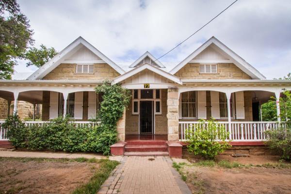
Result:
{"label": "smaller tree behind the roof, beside the left gable", "polygon": [[41,67],[57,53],[58,52],[53,47],[47,48],[43,44],[40,45],[40,49],[32,47],[25,53],[25,58],[29,60],[26,66],[35,65]]}

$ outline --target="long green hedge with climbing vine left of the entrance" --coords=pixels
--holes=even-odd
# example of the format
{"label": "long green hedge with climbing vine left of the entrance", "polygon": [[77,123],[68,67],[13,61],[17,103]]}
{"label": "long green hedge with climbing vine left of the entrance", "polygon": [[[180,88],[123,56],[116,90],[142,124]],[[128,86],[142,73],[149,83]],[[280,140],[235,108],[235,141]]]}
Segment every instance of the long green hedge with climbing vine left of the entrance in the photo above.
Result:
{"label": "long green hedge with climbing vine left of the entrance", "polygon": [[110,146],[118,141],[116,123],[128,106],[130,91],[118,84],[105,82],[97,86],[97,92],[103,94],[99,118],[100,126],[78,127],[68,117],[58,117],[43,126],[25,127],[17,115],[9,116],[4,128],[16,147],[33,150],[52,150],[68,152],[102,152],[110,154]]}

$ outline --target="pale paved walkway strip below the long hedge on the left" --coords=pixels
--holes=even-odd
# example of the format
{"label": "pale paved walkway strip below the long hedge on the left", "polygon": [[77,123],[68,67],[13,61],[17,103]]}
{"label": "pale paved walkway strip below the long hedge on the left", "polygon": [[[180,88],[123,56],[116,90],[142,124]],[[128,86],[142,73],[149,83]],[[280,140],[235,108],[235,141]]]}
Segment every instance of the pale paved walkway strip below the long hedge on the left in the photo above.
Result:
{"label": "pale paved walkway strip below the long hedge on the left", "polygon": [[98,154],[86,153],[51,153],[51,152],[29,152],[29,151],[0,151],[0,157],[19,157],[19,158],[96,158],[109,159],[114,161],[121,161],[123,157],[117,156],[103,156]]}

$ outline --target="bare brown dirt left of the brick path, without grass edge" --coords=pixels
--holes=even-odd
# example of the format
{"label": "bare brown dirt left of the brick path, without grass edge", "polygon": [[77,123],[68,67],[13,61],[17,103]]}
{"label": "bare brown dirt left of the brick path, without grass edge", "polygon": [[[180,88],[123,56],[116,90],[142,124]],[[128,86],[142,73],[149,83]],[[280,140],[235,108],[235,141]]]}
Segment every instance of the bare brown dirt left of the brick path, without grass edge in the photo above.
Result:
{"label": "bare brown dirt left of the brick path, without grass edge", "polygon": [[68,194],[98,168],[87,162],[0,160],[0,194]]}

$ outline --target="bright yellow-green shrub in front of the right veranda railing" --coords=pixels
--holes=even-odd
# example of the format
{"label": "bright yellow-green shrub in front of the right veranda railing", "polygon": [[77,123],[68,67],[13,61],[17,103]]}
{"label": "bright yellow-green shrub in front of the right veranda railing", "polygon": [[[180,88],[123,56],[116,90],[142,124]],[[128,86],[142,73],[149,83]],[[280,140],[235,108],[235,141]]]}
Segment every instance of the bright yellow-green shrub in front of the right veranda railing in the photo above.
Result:
{"label": "bright yellow-green shrub in front of the right veranda railing", "polygon": [[198,128],[187,129],[186,134],[189,139],[188,151],[202,155],[205,159],[213,160],[219,152],[224,152],[230,146],[226,142],[229,133],[213,119],[207,125],[205,120],[200,120]]}

